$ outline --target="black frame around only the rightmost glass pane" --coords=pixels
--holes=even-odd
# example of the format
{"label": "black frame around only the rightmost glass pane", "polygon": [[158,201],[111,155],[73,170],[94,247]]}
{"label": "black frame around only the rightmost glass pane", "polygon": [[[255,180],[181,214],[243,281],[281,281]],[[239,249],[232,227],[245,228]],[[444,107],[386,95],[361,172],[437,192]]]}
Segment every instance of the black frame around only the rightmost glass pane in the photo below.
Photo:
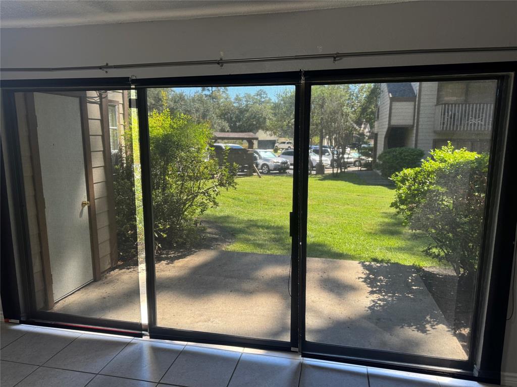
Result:
{"label": "black frame around only the rightmost glass pane", "polygon": [[[454,70],[457,68],[458,70]],[[492,133],[492,145],[489,163],[489,181],[486,196],[486,208],[485,208],[485,221],[483,227],[483,238],[481,245],[481,258],[480,258],[480,269],[478,270],[478,280],[476,284],[476,296],[475,296],[475,313],[473,321],[473,333],[470,337],[470,351],[468,354],[468,360],[452,360],[446,358],[429,357],[417,354],[391,352],[387,350],[375,350],[357,347],[346,347],[322,343],[308,342],[305,339],[305,302],[306,302],[306,270],[307,270],[307,200],[308,200],[308,175],[303,176],[301,183],[302,195],[301,205],[303,206],[300,224],[300,245],[302,246],[302,254],[300,259],[300,283],[302,284],[302,291],[300,293],[300,336],[301,336],[301,353],[304,357],[325,359],[333,361],[346,360],[348,363],[372,365],[372,366],[384,366],[395,369],[409,370],[418,369],[419,372],[428,372],[431,374],[447,374],[449,376],[457,376],[475,380],[483,380],[489,382],[499,382],[500,378],[500,359],[501,354],[492,352],[493,356],[486,356],[485,346],[481,349],[484,356],[482,361],[476,361],[478,358],[478,346],[479,346],[479,335],[483,334],[480,330],[481,314],[483,313],[482,305],[480,304],[481,296],[483,292],[489,293],[489,297],[494,300],[495,297],[500,301],[508,300],[509,294],[509,275],[511,273],[511,256],[513,253],[513,240],[515,232],[515,204],[511,203],[508,199],[500,200],[498,198],[498,181],[505,172],[504,166],[509,163],[514,163],[509,158],[509,144],[511,141],[510,136],[515,136],[510,133],[508,125],[508,132],[506,128],[505,117],[501,117],[501,113],[511,114],[509,117],[510,124],[515,121],[515,112],[506,111],[511,104],[509,101],[510,95],[515,99],[515,92],[511,94],[511,87],[513,82],[513,90],[515,91],[515,79],[512,79],[511,72],[515,69],[513,66],[472,66],[468,69],[462,68],[461,66],[442,66],[431,72],[420,72],[412,73],[410,71],[397,72],[395,69],[389,69],[387,73],[375,73],[369,72],[368,70],[359,71],[358,74],[354,72],[343,70],[343,71],[318,71],[318,72],[306,72],[306,90],[303,95],[305,100],[306,114],[303,122],[303,138],[305,139],[303,146],[305,149],[302,152],[308,152],[309,142],[309,131],[310,131],[310,99],[311,99],[311,87],[318,85],[331,85],[331,84],[354,84],[354,83],[387,83],[387,82],[437,82],[447,80],[476,80],[476,79],[494,79],[497,81],[498,94],[495,103],[494,112],[494,130]],[[411,69],[413,70],[413,69]],[[515,137],[513,137],[514,139]],[[506,157],[503,159],[503,155],[506,151]],[[507,172],[507,171],[506,171]],[[503,180],[503,186],[501,190],[503,192],[509,191],[510,182],[508,179]],[[504,189],[508,187],[508,189]],[[504,193],[503,193],[504,195]],[[501,195],[501,196],[503,196]],[[496,201],[499,199],[499,206],[497,207]],[[505,204],[503,204],[505,203]],[[504,214],[501,208],[508,208],[508,212]],[[501,219],[500,216],[503,215]],[[494,219],[497,218],[508,230],[495,229],[490,231],[493,226]],[[507,256],[510,259],[507,262],[500,262],[504,260],[490,261],[488,255],[490,255],[490,246],[487,244],[489,238],[495,238],[496,240],[503,240],[501,235],[506,235],[505,246],[496,246],[496,250],[492,252],[493,256]],[[500,249],[498,248],[500,247]],[[505,255],[506,254],[506,255]],[[497,261],[497,262],[496,262]],[[509,262],[509,264],[508,264]],[[507,271],[490,270],[493,266],[504,266]],[[504,281],[501,281],[504,278]],[[501,282],[505,282],[506,285],[502,285]],[[488,284],[492,284],[488,288]],[[497,296],[495,296],[495,288],[499,288]],[[484,315],[489,316],[487,320],[493,324],[495,320],[499,321],[497,324],[498,331],[494,336],[499,336],[498,343],[502,346],[504,342],[505,330],[505,316],[506,316],[506,305],[497,303],[488,303],[486,305],[486,312]],[[494,315],[498,315],[498,318],[491,318]],[[502,332],[502,334],[501,334]],[[486,337],[486,328],[483,334]],[[486,339],[485,339],[486,340]],[[497,347],[493,346],[493,349]],[[498,361],[498,360],[499,361]]]}

